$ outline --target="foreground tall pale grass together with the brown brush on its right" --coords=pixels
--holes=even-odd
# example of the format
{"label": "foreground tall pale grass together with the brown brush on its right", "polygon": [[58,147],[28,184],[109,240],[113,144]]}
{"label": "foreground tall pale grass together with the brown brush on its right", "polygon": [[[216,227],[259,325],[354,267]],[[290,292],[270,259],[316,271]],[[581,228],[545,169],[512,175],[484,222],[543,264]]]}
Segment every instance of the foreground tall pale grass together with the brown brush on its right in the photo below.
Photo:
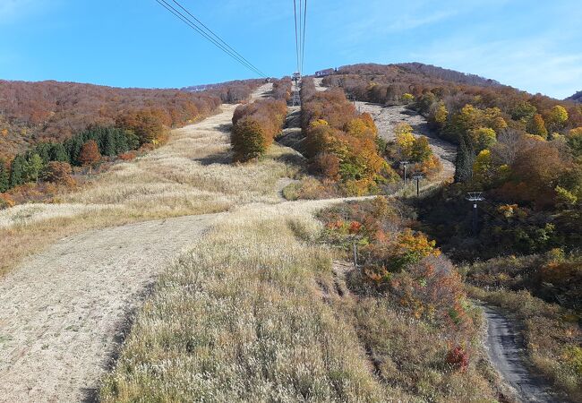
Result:
{"label": "foreground tall pale grass together with the brown brush on its right", "polygon": [[490,366],[449,368],[441,330],[333,294],[317,208],[245,207],[167,268],[103,401],[494,401]]}

